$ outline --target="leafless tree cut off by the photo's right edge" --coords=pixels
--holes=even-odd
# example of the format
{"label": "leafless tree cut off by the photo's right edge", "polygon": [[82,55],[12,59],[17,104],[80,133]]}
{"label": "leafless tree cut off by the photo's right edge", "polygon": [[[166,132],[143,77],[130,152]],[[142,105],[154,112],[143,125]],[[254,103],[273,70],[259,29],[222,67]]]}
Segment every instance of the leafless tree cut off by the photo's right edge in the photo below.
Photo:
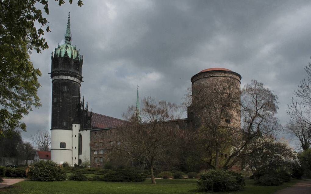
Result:
{"label": "leafless tree cut off by the photo's right edge", "polygon": [[285,131],[297,138],[303,150],[311,146],[311,63],[304,70],[308,78],[300,81],[294,95],[299,99],[292,98],[288,105],[287,114],[290,116]]}

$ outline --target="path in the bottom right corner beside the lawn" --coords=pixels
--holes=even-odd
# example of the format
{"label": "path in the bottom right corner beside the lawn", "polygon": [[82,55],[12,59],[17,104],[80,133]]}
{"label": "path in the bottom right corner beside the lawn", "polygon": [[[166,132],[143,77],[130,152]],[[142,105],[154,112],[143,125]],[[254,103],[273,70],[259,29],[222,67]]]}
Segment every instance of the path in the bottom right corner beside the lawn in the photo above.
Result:
{"label": "path in the bottom right corner beside the lawn", "polygon": [[311,193],[311,180],[309,179],[307,181],[301,181],[293,185],[292,187],[282,189],[276,192],[275,194],[295,194],[295,193],[310,194]]}

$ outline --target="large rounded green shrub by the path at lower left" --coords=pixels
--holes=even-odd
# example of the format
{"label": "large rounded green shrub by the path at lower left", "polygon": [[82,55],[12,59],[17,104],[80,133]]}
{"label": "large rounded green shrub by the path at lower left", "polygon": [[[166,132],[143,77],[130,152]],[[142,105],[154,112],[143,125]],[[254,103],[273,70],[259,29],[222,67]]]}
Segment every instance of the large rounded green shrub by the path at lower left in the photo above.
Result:
{"label": "large rounded green shrub by the path at lower left", "polygon": [[49,160],[41,160],[33,166],[28,166],[26,175],[35,181],[63,181],[66,179],[63,167]]}

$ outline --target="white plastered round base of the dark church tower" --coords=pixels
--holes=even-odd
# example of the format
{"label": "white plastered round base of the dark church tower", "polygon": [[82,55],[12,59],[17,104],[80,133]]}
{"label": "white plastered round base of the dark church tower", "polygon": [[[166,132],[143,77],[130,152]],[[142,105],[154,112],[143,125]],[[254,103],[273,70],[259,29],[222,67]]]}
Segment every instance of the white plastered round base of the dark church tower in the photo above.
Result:
{"label": "white plastered round base of the dark church tower", "polygon": [[[66,143],[66,148],[60,148],[60,142]],[[51,160],[58,164],[72,164],[72,130],[51,130]]]}

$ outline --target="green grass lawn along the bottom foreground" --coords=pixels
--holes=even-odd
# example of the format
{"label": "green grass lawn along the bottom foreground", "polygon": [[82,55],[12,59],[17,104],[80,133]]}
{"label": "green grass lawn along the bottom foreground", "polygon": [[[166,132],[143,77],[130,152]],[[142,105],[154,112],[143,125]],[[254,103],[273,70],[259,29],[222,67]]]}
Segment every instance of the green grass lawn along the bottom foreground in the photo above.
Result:
{"label": "green grass lawn along the bottom foreground", "polygon": [[[101,181],[61,181],[61,182],[37,182],[23,181],[14,184],[11,188],[0,189],[2,193],[22,194],[77,194],[77,193],[197,193],[196,179],[183,180],[156,180],[157,184],[151,184],[151,180],[137,183],[123,182],[101,182]],[[285,187],[299,182],[292,180],[291,183],[284,183],[282,186],[258,186],[253,180],[247,179],[244,191],[230,192],[237,194],[268,194],[274,193]]]}

